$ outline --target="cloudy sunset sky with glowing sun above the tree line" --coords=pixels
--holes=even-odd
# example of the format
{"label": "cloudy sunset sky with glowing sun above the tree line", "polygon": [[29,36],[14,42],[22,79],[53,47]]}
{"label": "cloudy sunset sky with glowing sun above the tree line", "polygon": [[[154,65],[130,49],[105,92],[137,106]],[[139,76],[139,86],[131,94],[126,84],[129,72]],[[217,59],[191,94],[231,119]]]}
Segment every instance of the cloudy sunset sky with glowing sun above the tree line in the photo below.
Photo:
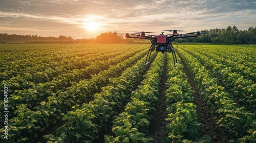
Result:
{"label": "cloudy sunset sky with glowing sun above the tree line", "polygon": [[[0,1],[0,33],[95,38],[103,32],[256,27],[255,0]],[[168,34],[168,32],[165,32]],[[181,33],[180,33],[181,34]]]}

